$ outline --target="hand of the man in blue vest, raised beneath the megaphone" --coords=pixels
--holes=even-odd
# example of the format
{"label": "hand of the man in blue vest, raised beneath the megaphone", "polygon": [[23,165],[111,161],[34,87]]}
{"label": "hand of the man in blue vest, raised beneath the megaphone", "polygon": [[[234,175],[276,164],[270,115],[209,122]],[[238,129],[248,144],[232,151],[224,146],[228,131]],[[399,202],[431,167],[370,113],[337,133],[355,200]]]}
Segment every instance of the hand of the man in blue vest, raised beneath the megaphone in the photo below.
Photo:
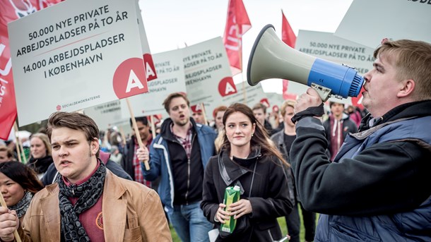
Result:
{"label": "hand of the man in blue vest, raised beneath the megaphone", "polygon": [[292,117],[293,123],[306,116],[322,116],[324,114],[323,102],[319,93],[312,87],[307,89],[307,93],[300,95],[295,104],[295,116]]}

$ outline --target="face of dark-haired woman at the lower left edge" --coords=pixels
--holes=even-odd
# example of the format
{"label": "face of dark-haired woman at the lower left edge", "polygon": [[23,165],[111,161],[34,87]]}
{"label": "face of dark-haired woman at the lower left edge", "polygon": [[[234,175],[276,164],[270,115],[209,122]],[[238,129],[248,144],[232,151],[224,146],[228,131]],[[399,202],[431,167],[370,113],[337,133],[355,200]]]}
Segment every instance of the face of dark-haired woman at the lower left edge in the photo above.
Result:
{"label": "face of dark-haired woman at the lower left edge", "polygon": [[24,197],[25,190],[19,184],[0,172],[0,191],[8,207],[16,205]]}

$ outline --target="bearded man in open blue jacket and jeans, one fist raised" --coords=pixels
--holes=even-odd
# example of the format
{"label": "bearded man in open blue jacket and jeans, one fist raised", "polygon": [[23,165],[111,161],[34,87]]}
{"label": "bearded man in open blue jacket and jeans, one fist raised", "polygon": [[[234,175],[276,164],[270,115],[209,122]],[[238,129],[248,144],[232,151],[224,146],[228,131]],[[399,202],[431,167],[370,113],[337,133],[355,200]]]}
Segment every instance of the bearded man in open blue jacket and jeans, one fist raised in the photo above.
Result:
{"label": "bearded man in open blue jacket and jeans, one fist raised", "polygon": [[[158,193],[169,221],[182,241],[208,241],[212,224],[203,217],[203,171],[215,154],[215,131],[190,118],[190,104],[179,92],[163,102],[170,118],[148,149],[138,149],[139,160],[148,160],[150,169],[143,176],[153,181],[160,176]],[[149,159],[148,159],[149,158]]]}

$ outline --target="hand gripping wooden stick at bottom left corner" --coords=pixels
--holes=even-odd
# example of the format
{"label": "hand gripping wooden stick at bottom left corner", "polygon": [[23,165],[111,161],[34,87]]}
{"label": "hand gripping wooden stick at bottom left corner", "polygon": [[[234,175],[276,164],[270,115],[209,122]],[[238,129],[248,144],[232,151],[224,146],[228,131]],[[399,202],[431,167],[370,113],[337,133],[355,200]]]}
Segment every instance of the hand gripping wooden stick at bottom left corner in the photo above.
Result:
{"label": "hand gripping wooden stick at bottom left corner", "polygon": [[0,207],[0,238],[1,241],[13,241],[13,231],[18,229],[19,219],[15,210]]}

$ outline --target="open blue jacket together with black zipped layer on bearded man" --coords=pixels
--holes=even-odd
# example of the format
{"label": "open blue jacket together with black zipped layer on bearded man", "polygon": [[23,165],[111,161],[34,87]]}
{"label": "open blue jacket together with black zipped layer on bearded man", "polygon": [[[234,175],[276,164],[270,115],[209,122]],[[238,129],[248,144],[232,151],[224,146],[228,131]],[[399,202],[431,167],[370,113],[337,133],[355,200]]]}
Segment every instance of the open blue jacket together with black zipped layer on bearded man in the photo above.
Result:
{"label": "open blue jacket together with black zipped layer on bearded man", "polygon": [[150,146],[150,169],[143,167],[143,176],[154,181],[159,176],[158,193],[166,212],[172,212],[173,205],[185,205],[202,199],[203,171],[208,159],[214,155],[215,131],[209,126],[195,123],[191,140],[191,154],[186,151],[172,134],[172,119],[163,121],[161,132]]}

